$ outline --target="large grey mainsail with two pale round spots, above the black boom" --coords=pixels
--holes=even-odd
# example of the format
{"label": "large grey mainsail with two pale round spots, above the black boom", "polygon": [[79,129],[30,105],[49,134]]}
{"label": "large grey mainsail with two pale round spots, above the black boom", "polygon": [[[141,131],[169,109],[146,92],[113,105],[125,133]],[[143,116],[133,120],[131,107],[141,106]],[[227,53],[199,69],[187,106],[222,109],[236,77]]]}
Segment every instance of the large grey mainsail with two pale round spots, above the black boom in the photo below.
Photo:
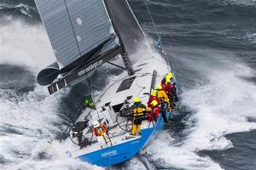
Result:
{"label": "large grey mainsail with two pale round spots, above the black boom", "polygon": [[[60,69],[119,45],[102,0],[35,0]],[[108,48],[104,45],[108,43]],[[72,66],[74,67],[74,65]]]}

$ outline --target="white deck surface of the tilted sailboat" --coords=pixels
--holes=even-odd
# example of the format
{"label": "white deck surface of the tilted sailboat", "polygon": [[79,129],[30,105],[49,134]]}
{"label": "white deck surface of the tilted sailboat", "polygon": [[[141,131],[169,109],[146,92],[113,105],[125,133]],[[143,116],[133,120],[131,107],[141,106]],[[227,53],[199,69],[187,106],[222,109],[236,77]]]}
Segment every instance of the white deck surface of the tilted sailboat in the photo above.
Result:
{"label": "white deck surface of the tilted sailboat", "polygon": [[[127,72],[124,71],[118,78],[116,82],[114,82],[111,86],[107,88],[107,90],[103,93],[102,97],[100,98],[99,102],[96,103],[97,111],[93,111],[91,114],[96,115],[96,112],[102,111],[102,106],[104,106],[106,103],[110,102],[110,105],[118,105],[120,103],[123,103],[127,96],[133,96],[130,100],[131,105],[134,97],[138,96],[143,100],[143,103],[146,104],[148,101],[148,95],[144,95],[143,93],[149,93],[150,92],[150,86],[152,81],[152,74],[153,71],[157,71],[157,77],[155,81],[155,86],[160,83],[161,79],[166,75],[168,71],[170,71],[169,67],[166,65],[166,62],[161,59],[160,57],[157,59],[149,58],[145,60],[138,61],[135,65],[133,65],[134,70],[136,71],[136,74],[132,77],[136,76],[136,79],[131,84],[131,88],[121,91],[119,93],[116,93],[117,89],[119,88],[120,83],[128,78]],[[79,117],[79,120],[83,120],[84,116],[88,114],[85,113],[82,114]],[[148,121],[143,121],[142,129],[148,128]],[[151,123],[151,127],[153,127]],[[122,133],[120,135],[117,135],[119,133]],[[138,139],[140,136],[131,137],[129,133],[125,133],[122,129],[120,129],[118,126],[113,127],[109,131],[109,136],[112,140],[112,144],[121,144],[123,142],[126,142],[128,140],[132,139]],[[126,137],[129,137],[129,139],[126,139]],[[92,151],[101,150],[101,144],[96,142],[94,144],[91,144],[87,147],[84,147],[83,149],[79,149],[79,146],[75,144],[69,144],[69,150],[73,154],[73,156],[81,156],[87,153],[90,153]]]}

